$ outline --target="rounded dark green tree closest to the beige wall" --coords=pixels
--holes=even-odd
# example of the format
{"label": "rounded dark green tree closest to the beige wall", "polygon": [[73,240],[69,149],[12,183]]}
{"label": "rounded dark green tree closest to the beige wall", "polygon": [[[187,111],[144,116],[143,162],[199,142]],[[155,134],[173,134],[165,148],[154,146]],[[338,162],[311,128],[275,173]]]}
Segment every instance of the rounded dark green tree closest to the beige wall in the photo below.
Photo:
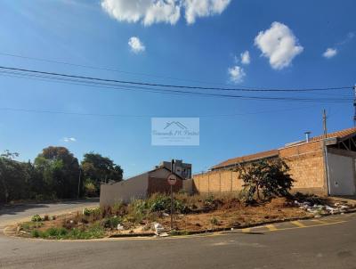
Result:
{"label": "rounded dark green tree closest to the beige wall", "polygon": [[98,153],[86,153],[81,167],[84,172],[85,182],[90,181],[94,184],[96,194],[100,192],[101,182],[119,182],[123,179],[123,169],[116,165],[113,160]]}

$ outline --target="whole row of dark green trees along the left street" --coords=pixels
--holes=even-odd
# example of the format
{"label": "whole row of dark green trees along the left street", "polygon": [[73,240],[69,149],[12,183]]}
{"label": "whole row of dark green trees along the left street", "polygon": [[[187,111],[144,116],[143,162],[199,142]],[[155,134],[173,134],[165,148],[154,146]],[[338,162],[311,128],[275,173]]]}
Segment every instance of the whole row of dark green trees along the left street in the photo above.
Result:
{"label": "whole row of dark green trees along the left street", "polygon": [[34,162],[20,162],[17,157],[19,153],[10,151],[0,155],[0,204],[98,196],[101,182],[123,178],[120,166],[93,152],[86,153],[81,164],[64,147],[45,148]]}

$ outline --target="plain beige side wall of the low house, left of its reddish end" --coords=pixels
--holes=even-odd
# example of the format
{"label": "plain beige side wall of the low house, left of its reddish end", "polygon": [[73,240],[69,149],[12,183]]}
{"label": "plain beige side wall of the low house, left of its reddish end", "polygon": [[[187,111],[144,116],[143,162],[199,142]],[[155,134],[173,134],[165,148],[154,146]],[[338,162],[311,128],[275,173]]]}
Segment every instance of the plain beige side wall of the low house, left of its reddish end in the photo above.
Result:
{"label": "plain beige side wall of the low house, left of its reddish end", "polygon": [[100,206],[112,206],[118,201],[129,202],[147,196],[149,173],[137,175],[119,183],[102,184]]}

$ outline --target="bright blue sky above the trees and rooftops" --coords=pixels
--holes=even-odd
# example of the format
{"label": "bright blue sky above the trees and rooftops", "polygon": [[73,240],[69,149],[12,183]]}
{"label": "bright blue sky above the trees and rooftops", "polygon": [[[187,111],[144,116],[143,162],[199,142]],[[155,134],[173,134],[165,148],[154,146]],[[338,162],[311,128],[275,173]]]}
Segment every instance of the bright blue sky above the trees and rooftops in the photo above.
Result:
{"label": "bright blue sky above the trees and rooftops", "polygon": [[[356,83],[353,0],[342,4],[325,0],[144,0],[141,6],[135,5],[138,2],[1,1],[0,65],[194,86],[304,88]],[[129,42],[132,37],[136,38]],[[245,52],[249,57],[242,62],[240,55]],[[347,98],[352,97],[352,89],[250,95]],[[23,160],[34,159],[49,145],[66,146],[78,159],[95,151],[114,159],[126,177],[173,158],[191,162],[199,172],[224,159],[303,139],[306,130],[319,135],[323,108],[328,111],[329,131],[352,126],[352,102],[151,94],[0,73],[0,151],[18,151]],[[152,146],[151,117],[200,118],[200,145]]]}

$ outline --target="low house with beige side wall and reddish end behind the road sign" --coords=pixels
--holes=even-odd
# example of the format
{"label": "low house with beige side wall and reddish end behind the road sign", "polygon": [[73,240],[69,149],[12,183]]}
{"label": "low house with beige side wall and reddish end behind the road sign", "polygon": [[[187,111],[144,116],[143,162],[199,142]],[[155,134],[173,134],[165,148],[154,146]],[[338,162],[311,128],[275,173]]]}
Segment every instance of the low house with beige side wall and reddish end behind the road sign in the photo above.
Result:
{"label": "low house with beige side wall and reddish end behind the road sign", "polygon": [[[134,199],[144,199],[156,192],[170,192],[171,186],[167,182],[171,170],[157,167],[141,175],[135,175],[118,183],[101,184],[100,206],[113,206],[116,202],[129,202]],[[184,180],[177,175],[177,182],[173,186],[174,192],[185,190],[191,192],[191,180]]]}

